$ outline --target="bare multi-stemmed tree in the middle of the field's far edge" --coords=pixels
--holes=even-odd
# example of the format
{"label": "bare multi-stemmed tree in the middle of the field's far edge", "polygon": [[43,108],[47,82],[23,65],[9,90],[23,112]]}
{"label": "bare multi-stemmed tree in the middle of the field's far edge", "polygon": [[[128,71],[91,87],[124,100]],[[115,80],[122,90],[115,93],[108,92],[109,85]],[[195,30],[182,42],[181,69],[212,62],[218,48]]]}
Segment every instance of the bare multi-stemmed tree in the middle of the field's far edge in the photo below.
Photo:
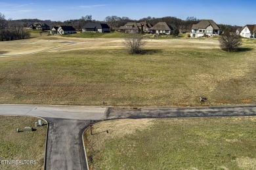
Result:
{"label": "bare multi-stemmed tree in the middle of the field's far edge", "polygon": [[138,33],[129,33],[127,38],[123,42],[125,46],[129,49],[130,54],[140,54],[143,52],[141,46],[143,46],[146,41],[142,40],[142,35]]}

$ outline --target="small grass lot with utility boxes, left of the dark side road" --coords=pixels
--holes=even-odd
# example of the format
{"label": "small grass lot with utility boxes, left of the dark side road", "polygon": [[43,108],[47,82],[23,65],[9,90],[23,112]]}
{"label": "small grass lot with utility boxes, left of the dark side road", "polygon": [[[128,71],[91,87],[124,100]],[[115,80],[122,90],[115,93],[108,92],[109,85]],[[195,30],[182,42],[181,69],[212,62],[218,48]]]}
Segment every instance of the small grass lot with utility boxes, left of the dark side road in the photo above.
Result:
{"label": "small grass lot with utility boxes, left of the dark side road", "polygon": [[[35,127],[38,119],[28,116],[0,116],[0,160],[11,162],[0,163],[0,169],[43,169],[47,126]],[[26,126],[33,127],[36,131],[16,133],[16,129],[23,131]],[[15,164],[12,160],[32,160],[33,163]]]}

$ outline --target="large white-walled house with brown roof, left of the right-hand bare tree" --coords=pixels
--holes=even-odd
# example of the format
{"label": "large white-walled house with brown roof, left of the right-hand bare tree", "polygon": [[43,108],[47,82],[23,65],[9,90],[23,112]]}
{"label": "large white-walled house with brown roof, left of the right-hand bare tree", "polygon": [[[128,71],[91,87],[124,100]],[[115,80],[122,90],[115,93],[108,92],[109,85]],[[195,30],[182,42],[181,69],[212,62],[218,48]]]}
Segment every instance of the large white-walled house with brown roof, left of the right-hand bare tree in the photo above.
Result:
{"label": "large white-walled house with brown roof, left of the right-hand bare tree", "polygon": [[190,36],[192,38],[203,37],[205,35],[220,35],[221,29],[213,20],[202,20],[198,24],[192,25]]}

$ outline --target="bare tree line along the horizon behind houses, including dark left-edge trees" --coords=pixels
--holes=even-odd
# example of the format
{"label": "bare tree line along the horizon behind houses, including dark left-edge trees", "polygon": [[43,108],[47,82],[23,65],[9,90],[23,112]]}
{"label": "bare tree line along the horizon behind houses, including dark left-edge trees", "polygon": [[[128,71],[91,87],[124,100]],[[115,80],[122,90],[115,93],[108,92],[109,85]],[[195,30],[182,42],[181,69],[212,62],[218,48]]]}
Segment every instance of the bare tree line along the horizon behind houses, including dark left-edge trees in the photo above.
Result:
{"label": "bare tree line along the horizon behind houses, including dark left-edge trees", "polygon": [[[50,27],[56,26],[56,25],[71,25],[73,26],[77,31],[81,31],[83,26],[89,22],[104,22],[110,26],[110,29],[112,31],[117,31],[118,27],[127,24],[127,22],[142,22],[146,21],[149,22],[152,25],[157,24],[158,22],[166,22],[167,24],[170,24],[172,27],[174,27],[176,30],[179,29],[180,32],[186,33],[190,32],[192,25],[197,24],[200,22],[200,19],[190,16],[186,18],[186,20],[181,20],[179,18],[173,17],[173,16],[165,16],[161,18],[155,18],[148,16],[146,18],[141,18],[139,20],[132,20],[129,17],[123,16],[106,16],[104,18],[104,21],[98,21],[93,20],[93,16],[86,15],[81,16],[81,18],[76,20],[66,20],[66,21],[51,21],[51,20],[38,20],[38,19],[22,19],[22,20],[6,20],[5,15],[0,13],[0,41],[11,41],[16,39],[24,39],[26,37],[30,36],[30,33],[28,32],[25,27],[29,27],[31,24],[34,24],[35,22],[43,22]],[[237,25],[224,25],[219,24],[222,30],[228,30],[230,32],[235,32],[236,29],[238,29],[239,26]]]}

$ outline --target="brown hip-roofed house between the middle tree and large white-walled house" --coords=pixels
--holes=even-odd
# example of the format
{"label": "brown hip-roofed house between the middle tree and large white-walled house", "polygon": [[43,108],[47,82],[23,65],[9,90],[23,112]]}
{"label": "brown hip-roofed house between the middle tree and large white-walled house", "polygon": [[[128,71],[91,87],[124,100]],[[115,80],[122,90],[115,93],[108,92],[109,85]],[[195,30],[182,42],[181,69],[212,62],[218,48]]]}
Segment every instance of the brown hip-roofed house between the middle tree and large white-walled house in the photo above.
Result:
{"label": "brown hip-roofed house between the middle tree and large white-walled house", "polygon": [[171,35],[173,30],[173,27],[166,22],[158,22],[158,24],[150,28],[150,33]]}

